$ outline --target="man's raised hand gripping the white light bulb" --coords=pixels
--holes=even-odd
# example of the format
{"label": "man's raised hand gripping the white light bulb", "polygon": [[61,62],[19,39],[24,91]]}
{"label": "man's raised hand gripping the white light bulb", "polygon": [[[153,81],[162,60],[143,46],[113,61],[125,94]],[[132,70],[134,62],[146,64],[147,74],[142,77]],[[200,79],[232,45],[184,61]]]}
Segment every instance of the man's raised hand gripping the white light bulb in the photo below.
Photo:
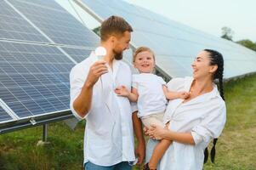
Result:
{"label": "man's raised hand gripping the white light bulb", "polygon": [[88,87],[94,86],[94,84],[99,80],[100,76],[107,73],[107,66],[105,65],[104,60],[99,60],[91,65],[90,70],[88,71],[88,77],[86,79],[86,84]]}

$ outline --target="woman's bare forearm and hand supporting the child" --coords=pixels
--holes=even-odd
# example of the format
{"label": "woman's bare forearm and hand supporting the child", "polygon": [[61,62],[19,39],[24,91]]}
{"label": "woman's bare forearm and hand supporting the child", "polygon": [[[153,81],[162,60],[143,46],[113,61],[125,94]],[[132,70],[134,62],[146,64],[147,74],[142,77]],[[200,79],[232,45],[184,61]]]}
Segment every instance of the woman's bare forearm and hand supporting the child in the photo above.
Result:
{"label": "woman's bare forearm and hand supporting the child", "polygon": [[156,125],[151,125],[150,128],[146,129],[145,133],[152,139],[168,139],[183,144],[195,144],[191,133],[176,133],[168,128],[162,128]]}

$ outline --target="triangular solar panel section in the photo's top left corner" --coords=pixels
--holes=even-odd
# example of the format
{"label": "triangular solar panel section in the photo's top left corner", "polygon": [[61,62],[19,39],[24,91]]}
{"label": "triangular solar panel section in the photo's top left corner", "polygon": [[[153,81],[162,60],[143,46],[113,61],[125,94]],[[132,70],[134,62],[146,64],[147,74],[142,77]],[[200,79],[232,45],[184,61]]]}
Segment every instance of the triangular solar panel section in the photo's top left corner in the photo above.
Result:
{"label": "triangular solar panel section in the photo's top left corner", "polygon": [[0,1],[0,38],[48,42],[43,35],[4,1]]}

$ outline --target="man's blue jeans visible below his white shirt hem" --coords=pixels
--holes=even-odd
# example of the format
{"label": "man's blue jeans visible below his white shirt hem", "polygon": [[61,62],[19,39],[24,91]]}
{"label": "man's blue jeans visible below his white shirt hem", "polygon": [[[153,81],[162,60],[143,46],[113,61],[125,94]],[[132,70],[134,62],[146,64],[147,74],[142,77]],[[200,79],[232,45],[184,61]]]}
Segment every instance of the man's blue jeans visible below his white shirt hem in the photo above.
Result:
{"label": "man's blue jeans visible below his white shirt hem", "polygon": [[133,165],[130,164],[128,161],[122,161],[120,163],[117,163],[113,166],[99,166],[95,165],[94,163],[88,161],[84,164],[85,170],[131,170]]}

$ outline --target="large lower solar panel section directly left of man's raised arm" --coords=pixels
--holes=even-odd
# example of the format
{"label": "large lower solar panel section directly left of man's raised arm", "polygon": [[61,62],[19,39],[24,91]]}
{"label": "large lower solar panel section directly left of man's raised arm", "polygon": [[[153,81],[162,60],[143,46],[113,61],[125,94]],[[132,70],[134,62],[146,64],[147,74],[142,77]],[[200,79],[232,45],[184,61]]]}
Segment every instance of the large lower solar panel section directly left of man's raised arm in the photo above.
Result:
{"label": "large lower solar panel section directly left of man's raised arm", "polygon": [[0,41],[1,99],[20,118],[68,110],[73,65],[55,47]]}

